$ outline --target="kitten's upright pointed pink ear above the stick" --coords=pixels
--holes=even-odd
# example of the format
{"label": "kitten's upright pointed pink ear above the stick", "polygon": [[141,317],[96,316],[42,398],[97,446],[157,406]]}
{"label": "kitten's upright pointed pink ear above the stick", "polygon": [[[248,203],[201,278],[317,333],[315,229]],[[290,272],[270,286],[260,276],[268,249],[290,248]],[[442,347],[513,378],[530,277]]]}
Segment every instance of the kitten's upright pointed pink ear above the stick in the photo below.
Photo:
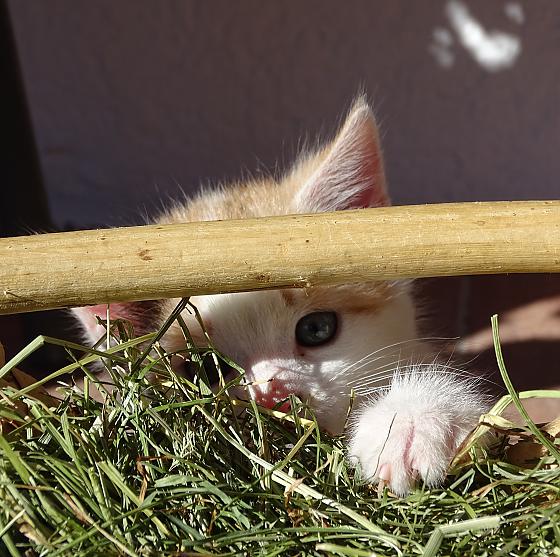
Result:
{"label": "kitten's upright pointed pink ear above the stick", "polygon": [[364,99],[355,104],[296,196],[302,213],[389,205],[377,124]]}

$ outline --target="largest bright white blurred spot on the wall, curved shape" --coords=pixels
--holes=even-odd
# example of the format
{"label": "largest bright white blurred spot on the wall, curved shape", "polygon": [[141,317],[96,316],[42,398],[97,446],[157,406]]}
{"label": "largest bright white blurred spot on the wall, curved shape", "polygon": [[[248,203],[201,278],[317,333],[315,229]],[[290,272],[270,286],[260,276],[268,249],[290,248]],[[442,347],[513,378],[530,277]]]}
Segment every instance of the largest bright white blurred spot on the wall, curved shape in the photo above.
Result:
{"label": "largest bright white blurred spot on the wall, curved shape", "polygon": [[498,71],[513,66],[521,52],[518,37],[486,31],[459,0],[450,0],[446,13],[460,43],[483,68]]}

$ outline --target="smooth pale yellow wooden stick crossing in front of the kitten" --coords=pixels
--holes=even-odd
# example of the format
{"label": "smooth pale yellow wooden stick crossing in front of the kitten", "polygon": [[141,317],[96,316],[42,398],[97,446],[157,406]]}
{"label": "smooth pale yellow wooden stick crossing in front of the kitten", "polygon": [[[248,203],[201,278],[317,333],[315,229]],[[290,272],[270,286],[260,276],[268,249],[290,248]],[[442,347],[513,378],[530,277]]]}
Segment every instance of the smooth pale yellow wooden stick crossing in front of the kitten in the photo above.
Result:
{"label": "smooth pale yellow wooden stick crossing in front of the kitten", "polygon": [[456,203],[0,239],[0,313],[560,271],[560,201]]}

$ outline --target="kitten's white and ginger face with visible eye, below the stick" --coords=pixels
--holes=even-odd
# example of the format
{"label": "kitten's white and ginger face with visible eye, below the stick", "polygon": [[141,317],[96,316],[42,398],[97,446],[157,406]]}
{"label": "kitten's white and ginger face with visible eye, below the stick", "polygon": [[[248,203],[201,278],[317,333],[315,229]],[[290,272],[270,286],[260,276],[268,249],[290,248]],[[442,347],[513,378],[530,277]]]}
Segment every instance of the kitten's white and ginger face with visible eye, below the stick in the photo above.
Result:
{"label": "kitten's white and ginger face with visible eye, below the stick", "polygon": [[[352,389],[409,353],[406,345],[382,349],[416,336],[410,296],[397,284],[221,294],[192,302],[212,342],[245,369],[249,386],[236,396],[272,408],[295,394],[331,433],[342,431]],[[194,317],[186,311],[183,317],[204,344]],[[166,348],[182,346],[182,332],[172,328]],[[372,361],[362,361],[378,350]]]}

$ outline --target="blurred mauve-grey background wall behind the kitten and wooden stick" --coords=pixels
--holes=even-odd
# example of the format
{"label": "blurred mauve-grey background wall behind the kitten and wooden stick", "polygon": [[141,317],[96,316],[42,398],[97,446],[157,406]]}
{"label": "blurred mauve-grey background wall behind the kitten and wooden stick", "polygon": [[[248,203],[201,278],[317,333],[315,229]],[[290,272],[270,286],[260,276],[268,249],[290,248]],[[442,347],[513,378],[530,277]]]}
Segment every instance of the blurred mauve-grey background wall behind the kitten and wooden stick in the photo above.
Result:
{"label": "blurred mauve-grey background wall behind the kitten and wooden stick", "polygon": [[[362,90],[396,204],[560,198],[553,0],[6,5],[57,229],[142,223],[201,183],[282,170]],[[420,284],[428,329],[466,337],[479,369],[495,373],[491,313],[513,323],[522,388],[560,384],[558,294],[551,276]]]}

